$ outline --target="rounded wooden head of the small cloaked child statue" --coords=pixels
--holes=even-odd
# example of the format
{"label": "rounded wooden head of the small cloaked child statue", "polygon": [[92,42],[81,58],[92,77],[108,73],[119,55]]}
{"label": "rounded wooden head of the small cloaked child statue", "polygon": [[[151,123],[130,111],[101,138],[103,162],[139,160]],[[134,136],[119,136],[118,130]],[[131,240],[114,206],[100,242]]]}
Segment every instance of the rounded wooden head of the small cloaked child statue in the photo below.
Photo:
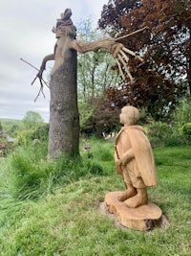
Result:
{"label": "rounded wooden head of the small cloaked child statue", "polygon": [[133,105],[124,106],[121,109],[119,119],[122,125],[128,125],[128,126],[137,125],[139,120],[138,108]]}

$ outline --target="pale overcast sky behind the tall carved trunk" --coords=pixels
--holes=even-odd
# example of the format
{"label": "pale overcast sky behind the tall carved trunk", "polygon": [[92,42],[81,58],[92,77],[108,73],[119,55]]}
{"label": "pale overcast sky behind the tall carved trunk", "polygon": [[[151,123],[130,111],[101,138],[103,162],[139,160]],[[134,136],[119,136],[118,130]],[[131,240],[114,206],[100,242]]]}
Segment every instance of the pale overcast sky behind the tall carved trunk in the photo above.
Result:
{"label": "pale overcast sky behind the tall carved trunk", "polygon": [[[108,0],[0,0],[0,118],[22,120],[27,111],[38,112],[49,122],[50,93],[45,98],[39,81],[32,81],[37,71],[20,58],[39,68],[42,58],[53,53],[52,32],[60,13],[70,8],[75,27],[91,18],[95,24]],[[53,61],[47,64],[47,80]]]}

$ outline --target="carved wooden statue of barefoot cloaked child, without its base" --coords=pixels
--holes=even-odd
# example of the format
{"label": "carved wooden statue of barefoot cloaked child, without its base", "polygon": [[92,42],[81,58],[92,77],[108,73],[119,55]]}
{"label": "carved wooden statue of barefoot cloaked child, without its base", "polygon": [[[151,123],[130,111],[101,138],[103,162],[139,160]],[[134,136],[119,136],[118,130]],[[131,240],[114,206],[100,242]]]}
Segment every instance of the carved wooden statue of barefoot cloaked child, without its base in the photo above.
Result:
{"label": "carved wooden statue of barefoot cloaked child, without its base", "polygon": [[115,162],[117,174],[122,175],[126,190],[118,197],[130,208],[147,204],[146,187],[157,185],[156,167],[150,142],[138,126],[139,112],[134,106],[124,106],[119,115],[124,125],[117,134]]}

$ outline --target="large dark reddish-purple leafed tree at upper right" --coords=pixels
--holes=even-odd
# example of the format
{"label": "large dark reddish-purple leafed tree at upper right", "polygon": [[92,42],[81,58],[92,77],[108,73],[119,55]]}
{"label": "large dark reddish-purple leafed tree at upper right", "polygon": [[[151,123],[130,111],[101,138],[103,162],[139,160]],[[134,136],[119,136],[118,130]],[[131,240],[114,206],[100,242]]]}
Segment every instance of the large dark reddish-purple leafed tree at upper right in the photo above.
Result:
{"label": "large dark reddish-purple leafed tree at upper right", "polygon": [[191,88],[190,8],[189,1],[110,0],[99,19],[99,27],[109,27],[112,35],[148,28],[122,39],[144,58],[143,63],[130,60],[136,81],[127,81],[123,90],[130,104],[144,106],[156,120],[169,115]]}

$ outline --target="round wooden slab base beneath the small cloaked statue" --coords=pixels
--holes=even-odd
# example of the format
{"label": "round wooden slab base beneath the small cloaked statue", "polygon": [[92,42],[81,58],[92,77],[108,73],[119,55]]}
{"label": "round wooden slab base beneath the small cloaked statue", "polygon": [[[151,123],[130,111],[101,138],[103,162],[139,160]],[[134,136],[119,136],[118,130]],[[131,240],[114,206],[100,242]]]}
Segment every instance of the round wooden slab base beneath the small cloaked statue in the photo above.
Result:
{"label": "round wooden slab base beneath the small cloaked statue", "polygon": [[110,192],[106,194],[104,200],[106,210],[114,214],[120,224],[135,230],[151,230],[160,226],[162,212],[156,204],[148,202],[137,208],[129,208],[122,201],[118,201],[117,197],[121,193],[121,191]]}

